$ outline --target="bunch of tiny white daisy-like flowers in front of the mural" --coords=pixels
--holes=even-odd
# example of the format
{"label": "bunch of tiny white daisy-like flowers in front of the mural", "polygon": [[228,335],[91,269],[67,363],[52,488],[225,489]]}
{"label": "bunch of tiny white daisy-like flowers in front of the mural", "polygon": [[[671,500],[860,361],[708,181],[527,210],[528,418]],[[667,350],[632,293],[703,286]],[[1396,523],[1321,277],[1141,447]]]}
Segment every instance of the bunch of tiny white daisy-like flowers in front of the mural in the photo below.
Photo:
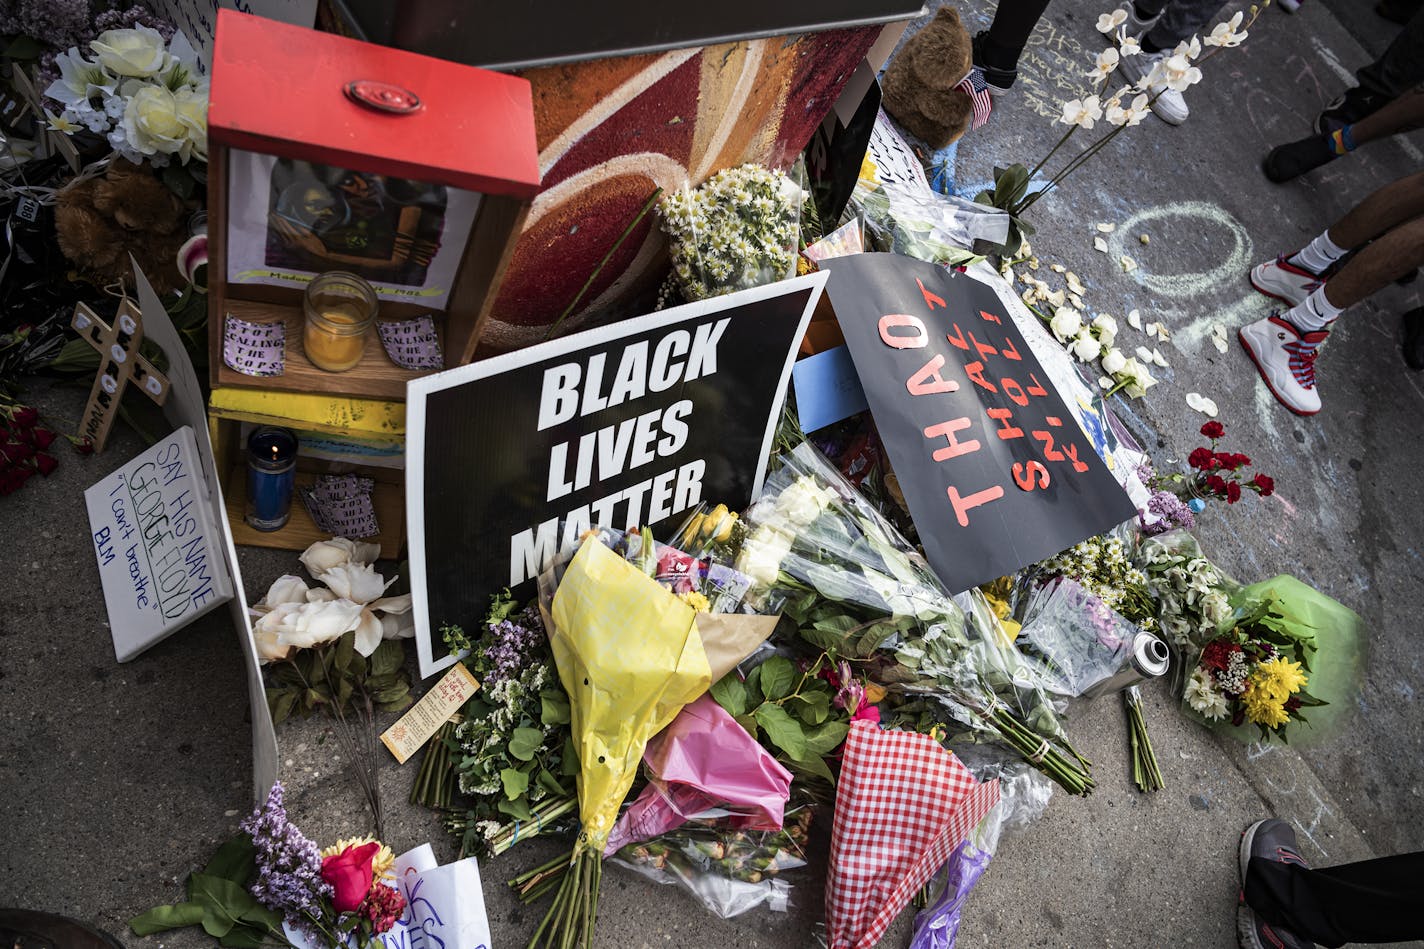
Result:
{"label": "bunch of tiny white daisy-like flowers in front of the mural", "polygon": [[682,296],[692,302],[792,276],[803,199],[790,178],[755,164],[664,194],[662,231]]}

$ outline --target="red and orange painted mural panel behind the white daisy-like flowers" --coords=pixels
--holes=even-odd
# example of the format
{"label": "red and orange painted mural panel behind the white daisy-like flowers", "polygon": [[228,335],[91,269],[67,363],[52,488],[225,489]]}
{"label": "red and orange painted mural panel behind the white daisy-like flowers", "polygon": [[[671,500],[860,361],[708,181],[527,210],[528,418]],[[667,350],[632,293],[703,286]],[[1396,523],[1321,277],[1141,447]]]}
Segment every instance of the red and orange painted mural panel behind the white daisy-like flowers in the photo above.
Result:
{"label": "red and orange painted mural panel behind the white daisy-like flowers", "polygon": [[[701,184],[746,161],[790,165],[879,34],[830,30],[524,71],[544,190],[480,355],[544,339],[654,188]],[[651,294],[664,261],[649,214],[565,328]]]}

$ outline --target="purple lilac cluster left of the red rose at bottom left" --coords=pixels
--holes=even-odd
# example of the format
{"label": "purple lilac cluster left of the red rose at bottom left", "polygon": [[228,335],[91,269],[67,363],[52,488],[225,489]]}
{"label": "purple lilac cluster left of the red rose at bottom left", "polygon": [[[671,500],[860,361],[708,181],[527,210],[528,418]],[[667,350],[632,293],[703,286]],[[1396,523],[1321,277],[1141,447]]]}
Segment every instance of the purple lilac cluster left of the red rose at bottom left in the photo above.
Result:
{"label": "purple lilac cluster left of the red rose at bottom left", "polygon": [[258,879],[252,895],[286,921],[308,929],[303,913],[322,915],[322,901],[332,888],[322,879],[322,854],[290,821],[282,805],[282,782],[272,785],[266,802],[239,826],[256,846]]}

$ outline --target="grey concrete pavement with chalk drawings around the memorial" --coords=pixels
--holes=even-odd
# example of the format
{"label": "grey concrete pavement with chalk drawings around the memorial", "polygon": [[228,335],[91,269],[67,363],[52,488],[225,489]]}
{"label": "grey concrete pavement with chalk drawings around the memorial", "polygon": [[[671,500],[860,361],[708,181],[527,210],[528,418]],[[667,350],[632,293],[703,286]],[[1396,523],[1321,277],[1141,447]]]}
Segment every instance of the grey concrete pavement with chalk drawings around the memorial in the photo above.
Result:
{"label": "grey concrete pavement with chalk drawings around the memorial", "polygon": [[[1081,95],[1108,7],[1059,0],[1022,64],[1015,94],[960,147],[960,182],[973,190],[994,164],[1032,162],[1054,141],[1057,103]],[[964,9],[971,30],[981,6]],[[1364,14],[1361,16],[1373,16]],[[1398,355],[1397,313],[1418,305],[1417,285],[1391,288],[1350,312],[1319,365],[1324,410],[1297,419],[1277,406],[1232,341],[1219,355],[1212,322],[1229,329],[1269,311],[1252,292],[1250,264],[1296,248],[1370,190],[1420,167],[1418,142],[1377,144],[1290,185],[1265,181],[1257,162],[1306,134],[1341,88],[1337,76],[1370,58],[1331,13],[1266,10],[1245,48],[1227,50],[1188,93],[1180,128],[1149,118],[1129,130],[1062,190],[1034,208],[1034,245],[1087,284],[1094,311],[1139,308],[1173,332],[1171,370],[1146,399],[1118,402],[1124,420],[1165,467],[1198,443],[1203,418],[1188,392],[1222,408],[1232,446],[1276,477],[1276,497],[1208,512],[1206,551],[1240,580],[1293,573],[1358,611],[1370,631],[1368,683],[1346,734],[1302,751],[1222,744],[1148,693],[1153,742],[1168,782],[1156,795],[1131,787],[1116,698],[1075,708],[1069,732],[1099,781],[1088,799],[1058,794],[1044,816],[1007,832],[970,899],[963,946],[1235,945],[1236,841],[1250,821],[1297,821],[1306,856],[1321,864],[1424,849],[1418,762],[1424,690],[1411,634],[1421,607],[1424,504],[1417,439],[1424,386]],[[1077,93],[1055,88],[1055,74]],[[1041,113],[1049,113],[1044,115]],[[1118,225],[1139,269],[1124,274],[1092,249],[1096,222]],[[1138,242],[1148,234],[1151,244]],[[1124,329],[1125,333],[1131,331]],[[1233,335],[1233,333],[1232,333]],[[84,392],[33,395],[73,422]],[[209,614],[117,665],[88,544],[83,490],[140,450],[120,430],[103,456],[68,452],[48,480],[0,500],[0,868],[10,901],[88,919],[134,946],[212,945],[197,930],[137,939],[124,921],[181,896],[252,805],[242,664],[225,611]],[[242,550],[249,601],[293,554]],[[387,570],[389,573],[389,570]],[[330,841],[366,829],[355,785],[320,720],[279,728],[293,818]],[[387,836],[397,849],[454,846],[434,815],[406,805],[416,765],[386,759]],[[501,882],[544,862],[555,845],[533,842],[484,865],[496,946],[523,945],[540,911],[511,901]],[[753,911],[723,922],[674,888],[621,871],[604,879],[600,946],[810,946],[820,918],[819,861],[796,872],[793,911]],[[903,946],[909,918],[884,945]]]}

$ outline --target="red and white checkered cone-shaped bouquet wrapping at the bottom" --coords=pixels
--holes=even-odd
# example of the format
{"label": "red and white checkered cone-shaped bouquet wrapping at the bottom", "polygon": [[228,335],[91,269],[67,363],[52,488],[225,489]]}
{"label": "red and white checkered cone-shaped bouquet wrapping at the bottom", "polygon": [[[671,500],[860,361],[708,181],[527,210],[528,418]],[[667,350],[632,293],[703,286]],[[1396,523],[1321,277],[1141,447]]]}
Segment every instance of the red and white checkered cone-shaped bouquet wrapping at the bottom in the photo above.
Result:
{"label": "red and white checkered cone-shaped bouquet wrapping at the bottom", "polygon": [[856,722],[842,752],[826,878],[830,949],[870,949],[998,804],[928,735]]}

